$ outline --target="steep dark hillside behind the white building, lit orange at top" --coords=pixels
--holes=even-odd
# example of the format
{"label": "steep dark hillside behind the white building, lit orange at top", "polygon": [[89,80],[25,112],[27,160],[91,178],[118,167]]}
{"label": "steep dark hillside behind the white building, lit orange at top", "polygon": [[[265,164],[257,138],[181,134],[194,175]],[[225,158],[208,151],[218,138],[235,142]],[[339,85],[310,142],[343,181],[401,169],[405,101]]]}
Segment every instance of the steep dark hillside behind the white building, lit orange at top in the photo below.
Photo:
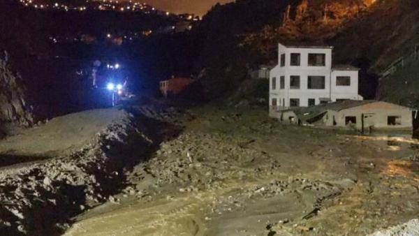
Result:
{"label": "steep dark hillside behind the white building, lit orange at top", "polygon": [[277,43],[335,46],[337,64],[361,68],[360,93],[374,98],[378,73],[418,42],[418,2],[242,0],[215,6],[200,24],[200,67],[208,90],[247,79],[277,61]]}

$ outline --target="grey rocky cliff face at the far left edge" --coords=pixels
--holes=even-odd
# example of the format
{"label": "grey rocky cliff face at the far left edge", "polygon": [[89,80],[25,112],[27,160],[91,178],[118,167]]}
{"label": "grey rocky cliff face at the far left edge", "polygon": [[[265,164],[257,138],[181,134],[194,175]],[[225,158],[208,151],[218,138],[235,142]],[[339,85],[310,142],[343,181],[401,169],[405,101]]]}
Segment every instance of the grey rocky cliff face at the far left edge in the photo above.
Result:
{"label": "grey rocky cliff face at the far left edge", "polygon": [[24,96],[24,86],[18,73],[10,66],[7,52],[0,57],[0,124],[15,123],[29,126],[33,117]]}

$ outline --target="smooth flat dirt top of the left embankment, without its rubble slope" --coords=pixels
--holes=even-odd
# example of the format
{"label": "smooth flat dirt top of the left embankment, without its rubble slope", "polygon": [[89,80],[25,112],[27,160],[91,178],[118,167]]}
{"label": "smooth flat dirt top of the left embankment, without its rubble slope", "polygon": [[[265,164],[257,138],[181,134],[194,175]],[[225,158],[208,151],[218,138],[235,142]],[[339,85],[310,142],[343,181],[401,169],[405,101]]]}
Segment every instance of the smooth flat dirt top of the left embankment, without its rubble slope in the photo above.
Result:
{"label": "smooth flat dirt top of the left embankment, without its rubble slope", "polygon": [[115,121],[126,117],[118,109],[89,110],[56,117],[0,140],[0,166],[66,156],[78,151]]}

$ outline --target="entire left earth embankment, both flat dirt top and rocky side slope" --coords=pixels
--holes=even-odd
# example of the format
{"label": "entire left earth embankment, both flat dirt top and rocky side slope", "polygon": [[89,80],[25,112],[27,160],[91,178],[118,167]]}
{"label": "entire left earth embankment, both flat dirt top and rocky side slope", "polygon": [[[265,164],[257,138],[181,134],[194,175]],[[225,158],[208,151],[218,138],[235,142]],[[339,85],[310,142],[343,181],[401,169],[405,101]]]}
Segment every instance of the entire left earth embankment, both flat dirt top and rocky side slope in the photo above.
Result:
{"label": "entire left earth embankment, both flat dirt top and rocky side slope", "polygon": [[0,142],[2,152],[24,155],[21,161],[47,158],[2,168],[0,235],[58,235],[71,217],[118,202],[113,195],[124,189],[124,173],[154,147],[152,125],[164,126],[137,113],[81,112]]}

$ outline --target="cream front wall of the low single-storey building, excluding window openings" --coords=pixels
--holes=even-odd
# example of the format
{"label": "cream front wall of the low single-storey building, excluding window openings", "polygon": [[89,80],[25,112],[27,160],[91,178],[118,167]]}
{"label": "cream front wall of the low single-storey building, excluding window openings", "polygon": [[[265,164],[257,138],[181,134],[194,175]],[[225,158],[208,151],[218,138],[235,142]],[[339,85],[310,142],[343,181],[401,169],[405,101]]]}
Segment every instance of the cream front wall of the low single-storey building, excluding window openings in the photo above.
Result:
{"label": "cream front wall of the low single-storey building, excluding window openings", "polygon": [[[328,113],[323,117],[323,122],[326,126],[334,126],[333,118],[335,117],[337,127],[346,127],[345,117],[356,117],[356,124],[354,128],[362,130],[362,115],[374,115],[371,119],[365,119],[365,128],[374,126],[378,129],[409,129],[413,128],[412,112],[409,108],[385,103],[376,102],[361,105],[355,108],[349,108],[341,111],[328,110]],[[400,125],[388,125],[388,116],[401,116]]]}

